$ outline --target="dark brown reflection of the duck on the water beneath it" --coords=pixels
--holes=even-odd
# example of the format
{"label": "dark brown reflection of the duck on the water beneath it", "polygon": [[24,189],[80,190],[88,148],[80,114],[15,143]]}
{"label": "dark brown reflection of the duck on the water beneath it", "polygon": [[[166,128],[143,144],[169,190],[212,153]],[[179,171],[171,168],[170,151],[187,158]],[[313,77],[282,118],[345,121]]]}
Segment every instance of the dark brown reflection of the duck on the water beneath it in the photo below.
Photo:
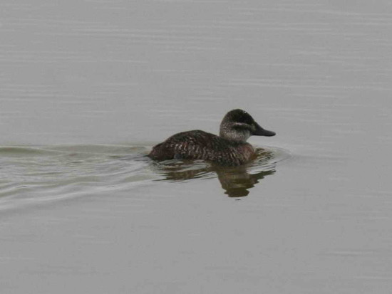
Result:
{"label": "dark brown reflection of the duck on the water beneath it", "polygon": [[[257,157],[262,161],[272,157],[272,153],[264,149],[257,149],[256,152]],[[239,167],[222,167],[217,164],[206,165],[200,162],[192,162],[191,165],[187,165],[186,162],[167,162],[166,164],[160,164],[160,173],[165,177],[160,181],[194,179],[216,173],[222,188],[225,189],[225,194],[229,197],[242,197],[247,196],[249,194],[248,190],[254,187],[260,179],[275,173],[274,166],[269,166],[253,174],[249,173],[247,169],[249,169],[249,164]]]}

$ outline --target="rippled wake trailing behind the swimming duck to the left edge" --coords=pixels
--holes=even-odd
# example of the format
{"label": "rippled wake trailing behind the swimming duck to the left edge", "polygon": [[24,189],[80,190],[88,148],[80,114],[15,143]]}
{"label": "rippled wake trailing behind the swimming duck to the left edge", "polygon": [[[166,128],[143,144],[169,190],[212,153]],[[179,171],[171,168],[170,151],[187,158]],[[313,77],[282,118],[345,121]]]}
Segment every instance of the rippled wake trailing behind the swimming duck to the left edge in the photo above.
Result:
{"label": "rippled wake trailing behind the swimming duck to the left edge", "polygon": [[0,206],[51,201],[132,187],[154,178],[146,147],[59,145],[0,147]]}

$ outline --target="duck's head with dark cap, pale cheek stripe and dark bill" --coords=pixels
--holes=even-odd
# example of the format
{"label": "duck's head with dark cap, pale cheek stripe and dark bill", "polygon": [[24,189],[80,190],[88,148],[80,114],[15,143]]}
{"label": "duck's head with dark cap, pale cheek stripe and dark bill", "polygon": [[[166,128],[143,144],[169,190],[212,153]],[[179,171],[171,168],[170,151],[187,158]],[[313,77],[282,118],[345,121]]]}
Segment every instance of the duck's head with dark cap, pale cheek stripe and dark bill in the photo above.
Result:
{"label": "duck's head with dark cap, pale cheek stripe and dark bill", "polygon": [[275,132],[264,130],[248,112],[234,109],[220,123],[220,137],[231,141],[247,142],[250,136],[274,136]]}

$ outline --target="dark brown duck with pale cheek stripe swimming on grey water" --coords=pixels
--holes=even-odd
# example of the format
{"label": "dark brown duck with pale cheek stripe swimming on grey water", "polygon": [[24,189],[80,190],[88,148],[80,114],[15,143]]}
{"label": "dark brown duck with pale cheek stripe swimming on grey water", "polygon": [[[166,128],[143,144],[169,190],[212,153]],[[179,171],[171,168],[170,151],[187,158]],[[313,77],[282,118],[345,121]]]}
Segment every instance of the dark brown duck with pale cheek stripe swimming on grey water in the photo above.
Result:
{"label": "dark brown duck with pale cheek stripe swimming on grey water", "polygon": [[168,159],[202,159],[221,166],[239,166],[251,162],[255,150],[247,140],[250,136],[272,137],[275,132],[265,130],[248,112],[234,109],[223,117],[219,136],[202,130],[179,132],[155,145],[148,157]]}

